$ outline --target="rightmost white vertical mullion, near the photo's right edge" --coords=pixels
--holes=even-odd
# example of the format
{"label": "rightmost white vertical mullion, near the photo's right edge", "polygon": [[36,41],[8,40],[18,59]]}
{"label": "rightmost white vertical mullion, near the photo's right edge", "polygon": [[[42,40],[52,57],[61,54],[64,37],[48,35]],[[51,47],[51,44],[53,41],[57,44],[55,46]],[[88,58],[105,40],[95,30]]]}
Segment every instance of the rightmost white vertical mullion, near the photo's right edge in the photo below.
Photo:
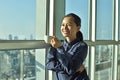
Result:
{"label": "rightmost white vertical mullion, near the photo's right edge", "polygon": [[[114,30],[114,40],[118,41],[118,0],[113,0],[113,30]],[[113,80],[117,80],[118,73],[118,45],[114,45],[113,54]]]}

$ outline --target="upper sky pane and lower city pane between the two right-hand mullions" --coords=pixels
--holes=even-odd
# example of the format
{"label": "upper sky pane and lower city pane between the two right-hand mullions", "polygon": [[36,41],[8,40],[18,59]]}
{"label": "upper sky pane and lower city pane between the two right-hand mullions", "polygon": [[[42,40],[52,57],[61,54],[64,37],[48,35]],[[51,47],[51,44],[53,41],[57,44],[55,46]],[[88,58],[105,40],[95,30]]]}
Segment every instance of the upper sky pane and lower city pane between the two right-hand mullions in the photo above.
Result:
{"label": "upper sky pane and lower city pane between the two right-hand mullions", "polygon": [[[112,0],[96,0],[96,40],[112,40]],[[96,46],[95,80],[112,80],[111,45]]]}

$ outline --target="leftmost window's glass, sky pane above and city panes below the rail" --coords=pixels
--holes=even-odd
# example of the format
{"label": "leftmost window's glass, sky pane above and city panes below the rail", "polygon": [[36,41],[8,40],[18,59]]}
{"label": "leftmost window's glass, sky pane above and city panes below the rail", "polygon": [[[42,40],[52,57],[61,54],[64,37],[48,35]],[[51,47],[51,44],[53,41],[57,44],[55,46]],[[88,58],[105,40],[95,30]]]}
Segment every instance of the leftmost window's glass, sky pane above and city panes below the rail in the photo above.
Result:
{"label": "leftmost window's glass, sky pane above and city panes below the rail", "polygon": [[[36,0],[0,0],[0,40],[34,40],[35,29]],[[3,46],[12,48],[13,45]],[[15,50],[0,51],[0,79],[35,80],[35,49],[16,50],[15,47],[20,45],[14,46]]]}

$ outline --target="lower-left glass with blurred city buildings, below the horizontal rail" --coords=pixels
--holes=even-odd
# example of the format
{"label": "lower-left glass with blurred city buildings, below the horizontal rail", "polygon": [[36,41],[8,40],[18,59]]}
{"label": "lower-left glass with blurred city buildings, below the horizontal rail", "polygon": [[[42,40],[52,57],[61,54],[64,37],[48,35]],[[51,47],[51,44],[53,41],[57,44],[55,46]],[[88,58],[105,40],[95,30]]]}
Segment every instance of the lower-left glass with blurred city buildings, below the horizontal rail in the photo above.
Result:
{"label": "lower-left glass with blurred city buildings, below the horizontal rail", "polygon": [[[23,77],[21,78],[21,76]],[[28,78],[35,80],[35,50],[0,51],[0,79],[20,80]]]}

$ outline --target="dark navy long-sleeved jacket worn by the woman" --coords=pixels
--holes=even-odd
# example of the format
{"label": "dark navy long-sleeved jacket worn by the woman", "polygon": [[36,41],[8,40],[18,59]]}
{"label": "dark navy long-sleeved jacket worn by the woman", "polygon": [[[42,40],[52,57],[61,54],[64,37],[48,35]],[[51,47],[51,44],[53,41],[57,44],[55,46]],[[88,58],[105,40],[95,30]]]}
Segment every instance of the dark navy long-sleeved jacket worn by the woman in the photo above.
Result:
{"label": "dark navy long-sleeved jacket worn by the woman", "polygon": [[62,44],[57,49],[50,47],[47,53],[46,68],[55,72],[55,80],[70,80],[83,64],[87,56],[88,46],[84,41],[78,39],[70,43],[63,40]]}

